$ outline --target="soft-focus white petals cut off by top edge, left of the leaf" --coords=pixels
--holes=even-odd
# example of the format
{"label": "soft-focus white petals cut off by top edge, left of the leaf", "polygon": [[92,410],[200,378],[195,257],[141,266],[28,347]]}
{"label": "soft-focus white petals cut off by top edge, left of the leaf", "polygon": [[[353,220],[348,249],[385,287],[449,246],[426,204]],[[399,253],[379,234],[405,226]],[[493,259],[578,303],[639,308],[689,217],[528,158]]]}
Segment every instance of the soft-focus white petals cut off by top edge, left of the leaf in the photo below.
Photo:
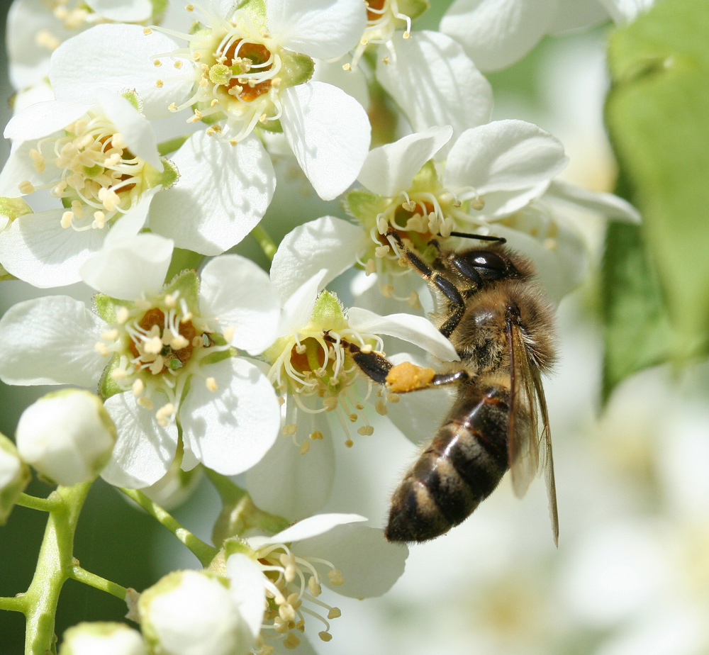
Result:
{"label": "soft-focus white petals cut off by top edge, left of the leaf", "polygon": [[654,0],[455,0],[440,30],[463,45],[482,70],[506,68],[545,34],[599,23],[634,20]]}

